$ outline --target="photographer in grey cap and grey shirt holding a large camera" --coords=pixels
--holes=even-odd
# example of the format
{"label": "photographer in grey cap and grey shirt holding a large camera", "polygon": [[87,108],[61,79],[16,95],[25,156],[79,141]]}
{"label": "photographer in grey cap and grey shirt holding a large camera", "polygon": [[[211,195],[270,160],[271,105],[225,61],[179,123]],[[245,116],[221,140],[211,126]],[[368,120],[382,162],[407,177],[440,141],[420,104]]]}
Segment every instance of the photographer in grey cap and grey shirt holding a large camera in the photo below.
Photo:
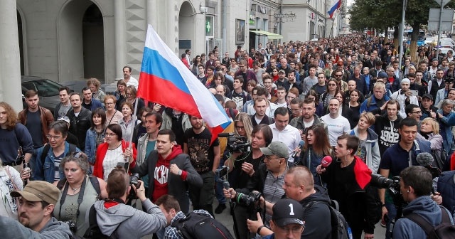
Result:
{"label": "photographer in grey cap and grey shirt holding a large camera", "polygon": [[[258,211],[256,204],[261,194],[265,201],[272,203],[277,202],[282,197],[284,194],[284,174],[290,167],[295,166],[295,164],[287,161],[289,151],[286,144],[282,142],[272,142],[268,147],[260,148],[260,151],[265,155],[264,164],[259,164],[259,168],[254,172],[245,188],[224,189],[226,198],[230,198],[237,205],[250,207],[249,213],[247,213],[250,215],[240,215],[239,217],[242,218],[237,218],[237,211],[234,210],[235,221],[239,222],[235,228],[238,230],[236,232],[237,238],[248,238],[247,218],[256,220]],[[268,225],[271,218],[272,216],[266,213],[264,222]],[[239,234],[243,236],[239,236]]]}

